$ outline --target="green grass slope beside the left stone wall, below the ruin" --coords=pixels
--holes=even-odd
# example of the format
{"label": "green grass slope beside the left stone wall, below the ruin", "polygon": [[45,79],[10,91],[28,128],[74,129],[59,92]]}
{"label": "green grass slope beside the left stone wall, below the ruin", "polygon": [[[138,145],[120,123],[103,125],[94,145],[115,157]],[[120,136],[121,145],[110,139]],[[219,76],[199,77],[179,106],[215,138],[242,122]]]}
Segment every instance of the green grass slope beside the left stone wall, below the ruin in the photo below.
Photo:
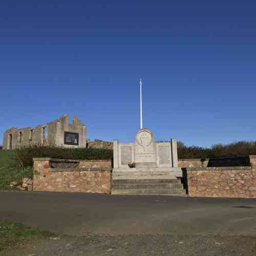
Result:
{"label": "green grass slope beside the left stone wall, below the ruin", "polygon": [[33,178],[32,167],[16,167],[16,151],[0,150],[0,190],[10,189],[11,181]]}

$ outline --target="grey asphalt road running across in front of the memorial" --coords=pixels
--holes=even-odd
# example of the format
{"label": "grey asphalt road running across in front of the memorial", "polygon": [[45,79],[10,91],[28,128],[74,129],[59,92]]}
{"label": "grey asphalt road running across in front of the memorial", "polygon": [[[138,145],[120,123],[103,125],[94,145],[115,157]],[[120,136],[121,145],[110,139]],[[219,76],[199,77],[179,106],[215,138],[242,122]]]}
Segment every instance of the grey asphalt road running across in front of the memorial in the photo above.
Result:
{"label": "grey asphalt road running across in front of the memorial", "polygon": [[0,221],[68,235],[256,234],[256,199],[1,192]]}

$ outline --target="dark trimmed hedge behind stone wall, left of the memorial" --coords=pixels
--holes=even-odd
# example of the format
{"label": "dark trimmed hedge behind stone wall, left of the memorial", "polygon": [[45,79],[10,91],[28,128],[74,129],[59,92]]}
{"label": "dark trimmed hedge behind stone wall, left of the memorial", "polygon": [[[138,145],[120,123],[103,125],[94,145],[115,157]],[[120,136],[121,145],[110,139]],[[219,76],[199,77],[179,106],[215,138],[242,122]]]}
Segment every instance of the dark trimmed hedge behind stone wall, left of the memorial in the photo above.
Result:
{"label": "dark trimmed hedge behind stone wall, left of the memorial", "polygon": [[106,148],[63,148],[33,145],[16,150],[16,164],[19,168],[33,165],[35,157],[51,157],[77,160],[111,160],[113,150]]}

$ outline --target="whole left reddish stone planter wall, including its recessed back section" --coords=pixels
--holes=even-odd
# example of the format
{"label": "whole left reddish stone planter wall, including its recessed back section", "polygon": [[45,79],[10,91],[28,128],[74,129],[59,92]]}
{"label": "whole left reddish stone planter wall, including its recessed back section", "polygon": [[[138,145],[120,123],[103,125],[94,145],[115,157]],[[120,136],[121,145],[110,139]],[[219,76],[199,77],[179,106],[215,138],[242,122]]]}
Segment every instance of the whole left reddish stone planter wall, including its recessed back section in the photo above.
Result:
{"label": "whole left reddish stone planter wall, including its recessed back section", "polygon": [[111,193],[111,161],[86,163],[85,160],[52,158],[33,161],[35,191]]}

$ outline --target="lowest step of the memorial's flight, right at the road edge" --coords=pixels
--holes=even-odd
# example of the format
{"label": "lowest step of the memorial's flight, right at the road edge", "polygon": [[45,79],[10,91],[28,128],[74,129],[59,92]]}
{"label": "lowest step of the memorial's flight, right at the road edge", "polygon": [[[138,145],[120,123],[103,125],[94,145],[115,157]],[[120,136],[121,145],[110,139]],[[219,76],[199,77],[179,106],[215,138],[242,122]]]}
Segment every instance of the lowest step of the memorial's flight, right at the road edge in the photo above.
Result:
{"label": "lowest step of the memorial's flight, right at the road edge", "polygon": [[112,195],[175,195],[186,196],[185,189],[112,189]]}

